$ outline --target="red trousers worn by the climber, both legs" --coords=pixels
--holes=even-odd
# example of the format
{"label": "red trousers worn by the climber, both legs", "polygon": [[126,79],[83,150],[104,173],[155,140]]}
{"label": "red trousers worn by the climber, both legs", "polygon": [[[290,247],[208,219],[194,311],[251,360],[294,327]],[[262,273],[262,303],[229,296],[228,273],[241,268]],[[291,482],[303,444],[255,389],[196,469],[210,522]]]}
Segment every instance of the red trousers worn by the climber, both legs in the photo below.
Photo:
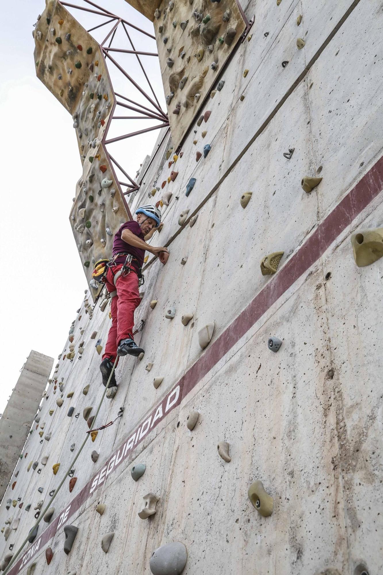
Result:
{"label": "red trousers worn by the climber, both legs", "polygon": [[108,357],[112,361],[117,357],[117,347],[121,339],[133,339],[134,313],[140,305],[141,298],[138,289],[138,276],[134,271],[120,275],[114,285],[114,275],[121,270],[122,264],[110,267],[106,272],[105,285],[109,293],[117,290],[117,296],[112,298],[112,326],[109,329],[108,341],[102,359]]}

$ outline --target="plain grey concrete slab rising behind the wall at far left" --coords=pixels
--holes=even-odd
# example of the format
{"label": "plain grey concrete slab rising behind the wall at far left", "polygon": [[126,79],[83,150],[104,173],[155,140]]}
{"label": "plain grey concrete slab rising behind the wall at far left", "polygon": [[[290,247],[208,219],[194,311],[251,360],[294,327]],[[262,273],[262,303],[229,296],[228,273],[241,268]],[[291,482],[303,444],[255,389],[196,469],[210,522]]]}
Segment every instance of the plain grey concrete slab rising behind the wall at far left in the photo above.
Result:
{"label": "plain grey concrete slab rising behind the wall at far left", "polygon": [[0,419],[0,499],[16,467],[52,366],[53,358],[30,352]]}

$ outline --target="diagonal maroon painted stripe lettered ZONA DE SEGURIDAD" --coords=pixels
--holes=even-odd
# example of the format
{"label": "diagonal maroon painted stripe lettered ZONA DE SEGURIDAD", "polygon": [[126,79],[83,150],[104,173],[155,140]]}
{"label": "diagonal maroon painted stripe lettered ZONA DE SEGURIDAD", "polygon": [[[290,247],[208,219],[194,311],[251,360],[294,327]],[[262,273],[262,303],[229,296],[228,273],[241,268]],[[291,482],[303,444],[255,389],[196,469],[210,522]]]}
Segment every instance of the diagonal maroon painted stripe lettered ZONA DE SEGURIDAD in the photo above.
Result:
{"label": "diagonal maroon painted stripe lettered ZONA DE SEGURIDAD", "polygon": [[[41,550],[45,543],[48,543],[49,539],[55,535],[58,528],[62,527],[64,523],[70,519],[70,517],[78,511],[83,503],[91,496],[95,490],[98,489],[102,483],[104,483],[109,471],[104,473],[104,478],[102,481],[97,480],[101,478],[104,470],[110,468],[110,472],[114,471],[118,465],[125,461],[129,454],[135,450],[136,446],[144,439],[141,436],[141,431],[144,425],[150,421],[154,421],[156,414],[160,409],[161,416],[147,425],[149,434],[160,421],[164,419],[174,408],[181,404],[183,398],[197,385],[199,381],[216,365],[217,362],[227,352],[239,341],[240,338],[258,321],[262,315],[273,305],[279,297],[281,297],[286,290],[297,281],[312,265],[315,263],[321,255],[331,246],[332,242],[343,232],[344,229],[366,208],[367,205],[381,192],[383,189],[383,156],[378,160],[376,164],[367,172],[367,174],[357,183],[352,190],[343,198],[342,201],[332,210],[330,214],[323,220],[321,224],[318,225],[315,232],[312,233],[310,237],[305,241],[305,243],[297,250],[296,254],[293,254],[291,258],[286,262],[284,267],[275,274],[265,287],[259,292],[254,300],[240,313],[238,317],[225,329],[223,333],[216,339],[215,342],[210,344],[208,349],[201,355],[200,359],[197,360],[194,365],[186,371],[185,375],[179,379],[178,383],[175,384],[173,389],[168,392],[163,399],[156,405],[154,409],[143,417],[140,424],[137,425],[135,430],[131,432],[127,438],[121,443],[118,450],[111,455],[111,457],[104,463],[97,474],[95,474],[90,481],[82,488],[74,499],[66,505],[66,507],[60,512],[59,516],[52,522],[51,525],[40,535],[40,538],[36,538],[36,541],[32,543],[29,550],[22,555],[22,557],[17,561],[17,563],[10,569],[8,575],[16,575],[22,567],[24,568],[29,560]],[[350,248],[351,249],[351,248]],[[168,401],[174,396],[174,393],[178,389],[177,401],[170,402],[171,407],[167,409]],[[136,438],[137,436],[137,438]],[[129,438],[129,439],[128,439]],[[132,440],[132,448],[125,450],[127,443]],[[134,445],[133,445],[134,442]],[[121,455],[121,450],[124,453]],[[117,458],[121,458],[117,462]],[[96,486],[94,486],[96,482]],[[59,526],[60,523],[60,526]],[[30,553],[30,549],[35,549],[33,553]],[[29,558],[25,558],[25,555],[30,553]]]}

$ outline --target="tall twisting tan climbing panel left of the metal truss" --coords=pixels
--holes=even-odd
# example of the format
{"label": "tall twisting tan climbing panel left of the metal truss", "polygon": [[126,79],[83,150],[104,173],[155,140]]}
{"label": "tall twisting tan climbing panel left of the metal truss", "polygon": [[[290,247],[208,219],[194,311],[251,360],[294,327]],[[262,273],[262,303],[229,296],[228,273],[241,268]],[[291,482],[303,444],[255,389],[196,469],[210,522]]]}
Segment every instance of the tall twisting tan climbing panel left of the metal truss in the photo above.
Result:
{"label": "tall twisting tan climbing panel left of the metal truss", "polygon": [[113,90],[97,42],[59,2],[47,2],[33,37],[37,77],[72,115],[83,173],[70,221],[96,297],[93,264],[112,255],[112,235],[129,218],[101,143],[113,110]]}

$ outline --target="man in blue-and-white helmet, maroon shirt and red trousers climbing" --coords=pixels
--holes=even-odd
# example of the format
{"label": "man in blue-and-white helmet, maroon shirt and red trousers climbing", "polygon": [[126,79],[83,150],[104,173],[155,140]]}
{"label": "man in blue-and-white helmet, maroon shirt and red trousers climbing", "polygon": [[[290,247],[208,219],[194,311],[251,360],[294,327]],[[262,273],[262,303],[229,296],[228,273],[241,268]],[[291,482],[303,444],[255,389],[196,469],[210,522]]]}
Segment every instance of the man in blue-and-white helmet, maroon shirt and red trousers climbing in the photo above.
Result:
{"label": "man in blue-and-white helmet, maroon shirt and red trousers climbing", "polygon": [[[145,240],[150,239],[155,229],[160,229],[161,213],[152,205],[141,206],[136,210],[136,221],[122,224],[114,235],[112,260],[108,263],[104,282],[112,298],[112,326],[109,329],[108,341],[99,369],[102,383],[106,386],[117,355],[139,356],[144,350],[133,340],[134,312],[141,302],[139,295],[139,278],[144,263],[145,250],[159,255],[166,252],[165,247],[150,246]],[[109,387],[116,386],[114,372]]]}

